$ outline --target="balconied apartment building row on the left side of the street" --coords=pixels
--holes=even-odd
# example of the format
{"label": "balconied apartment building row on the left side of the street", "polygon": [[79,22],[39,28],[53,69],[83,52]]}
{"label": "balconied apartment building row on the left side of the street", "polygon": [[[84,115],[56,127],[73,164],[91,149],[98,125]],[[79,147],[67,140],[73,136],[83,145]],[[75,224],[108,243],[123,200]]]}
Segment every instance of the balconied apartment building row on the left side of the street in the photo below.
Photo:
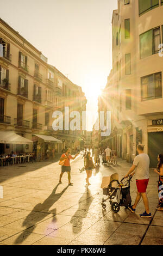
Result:
{"label": "balconied apartment building row on the left side of the street", "polygon": [[[52,125],[53,112],[62,112],[66,101],[71,109],[85,111],[82,88],[49,65],[39,50],[1,19],[0,45],[0,129],[33,141],[33,145],[1,144],[1,153],[35,151],[45,155],[53,148],[61,152],[78,144],[83,133],[74,131],[67,138],[65,131],[54,131]],[[76,94],[79,106],[70,100],[71,94]]]}

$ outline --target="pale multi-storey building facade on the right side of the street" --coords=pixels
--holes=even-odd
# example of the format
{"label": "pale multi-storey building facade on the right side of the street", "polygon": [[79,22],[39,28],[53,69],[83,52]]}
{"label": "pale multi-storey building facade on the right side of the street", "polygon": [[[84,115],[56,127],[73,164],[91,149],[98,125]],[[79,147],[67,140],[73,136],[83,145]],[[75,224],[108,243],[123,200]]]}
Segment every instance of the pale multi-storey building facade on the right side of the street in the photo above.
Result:
{"label": "pale multi-storey building facade on the right side of the street", "polygon": [[162,43],[162,0],[118,0],[112,15],[112,71],[106,84],[112,115],[108,143],[128,162],[137,154],[136,145],[144,144],[151,167],[163,153]]}

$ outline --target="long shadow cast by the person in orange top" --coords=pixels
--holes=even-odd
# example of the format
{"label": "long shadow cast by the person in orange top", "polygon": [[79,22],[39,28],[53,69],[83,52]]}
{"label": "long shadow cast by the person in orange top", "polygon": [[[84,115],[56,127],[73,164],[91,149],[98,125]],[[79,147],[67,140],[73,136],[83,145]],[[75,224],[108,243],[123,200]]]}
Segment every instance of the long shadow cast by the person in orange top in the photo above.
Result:
{"label": "long shadow cast by the person in orange top", "polygon": [[[20,234],[20,236],[17,237],[17,239],[15,240],[14,244],[20,244],[22,243],[24,240],[27,239],[27,237],[34,231],[35,229],[35,225],[37,222],[40,222],[43,220],[43,218],[45,218],[45,216],[47,216],[47,214],[53,214],[54,218],[52,220],[52,222],[57,222],[57,218],[55,217],[55,215],[57,214],[57,210],[56,208],[49,211],[49,209],[51,208],[51,206],[53,204],[55,204],[55,202],[57,202],[59,200],[59,198],[62,196],[62,194],[67,190],[68,186],[66,186],[64,188],[64,190],[62,190],[60,193],[55,193],[57,191],[57,188],[59,186],[60,183],[57,184],[57,186],[54,187],[54,190],[52,191],[52,193],[48,196],[48,198],[45,199],[45,201],[43,203],[39,203],[36,204],[33,208],[33,210],[30,212],[30,214],[26,217],[26,219],[24,220],[22,226],[26,226],[27,228],[30,227],[30,233],[27,233],[28,229],[25,229],[23,231],[23,233]],[[46,209],[46,213],[45,212],[41,212],[43,210]],[[37,214],[37,216],[35,217],[35,214]],[[30,226],[30,223],[31,226]],[[53,230],[52,230],[53,231]]]}

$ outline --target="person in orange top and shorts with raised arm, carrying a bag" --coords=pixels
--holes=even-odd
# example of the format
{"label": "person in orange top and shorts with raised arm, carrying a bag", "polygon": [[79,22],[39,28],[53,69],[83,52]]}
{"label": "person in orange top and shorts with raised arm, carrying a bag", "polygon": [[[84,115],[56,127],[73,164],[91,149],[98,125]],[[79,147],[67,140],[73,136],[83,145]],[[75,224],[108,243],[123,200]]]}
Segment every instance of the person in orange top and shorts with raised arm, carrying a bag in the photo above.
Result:
{"label": "person in orange top and shorts with raised arm, carrying a bag", "polygon": [[64,165],[61,166],[61,174],[59,177],[59,183],[61,183],[61,178],[65,172],[68,174],[68,186],[72,186],[73,183],[71,182],[71,166],[70,166],[70,159],[75,159],[77,157],[78,153],[72,157],[70,154],[70,148],[66,149],[66,153],[62,154],[60,157],[60,161],[65,160]]}

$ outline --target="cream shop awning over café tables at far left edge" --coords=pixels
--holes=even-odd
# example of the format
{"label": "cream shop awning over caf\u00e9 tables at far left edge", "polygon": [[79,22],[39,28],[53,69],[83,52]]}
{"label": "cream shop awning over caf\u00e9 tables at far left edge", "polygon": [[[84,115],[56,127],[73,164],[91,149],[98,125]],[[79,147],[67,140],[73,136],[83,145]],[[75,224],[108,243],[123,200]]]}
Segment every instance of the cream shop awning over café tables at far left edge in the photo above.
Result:
{"label": "cream shop awning over caf\u00e9 tables at far left edge", "polygon": [[0,143],[2,144],[33,144],[27,138],[24,138],[14,131],[0,131]]}

